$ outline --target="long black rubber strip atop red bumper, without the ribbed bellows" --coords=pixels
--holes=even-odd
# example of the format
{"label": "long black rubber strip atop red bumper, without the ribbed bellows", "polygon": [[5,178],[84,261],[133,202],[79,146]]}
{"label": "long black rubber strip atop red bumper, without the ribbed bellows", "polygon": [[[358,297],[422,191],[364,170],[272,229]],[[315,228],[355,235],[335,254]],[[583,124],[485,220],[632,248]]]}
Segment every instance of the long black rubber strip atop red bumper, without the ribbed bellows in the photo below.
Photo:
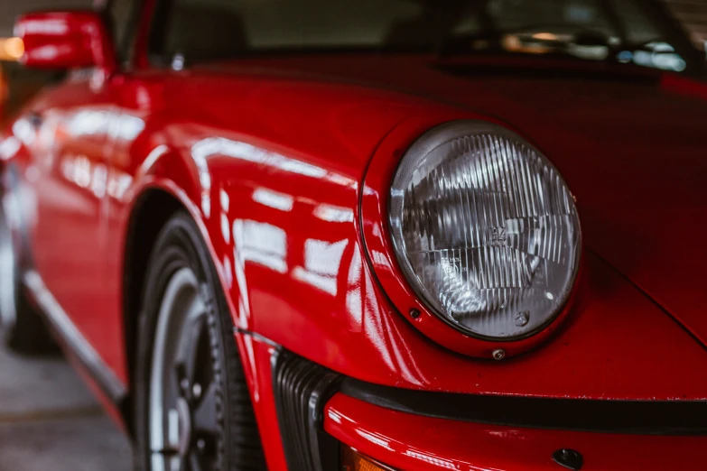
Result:
{"label": "long black rubber strip atop red bumper, without the ribbed bellows", "polygon": [[345,378],[340,392],[425,417],[530,429],[707,435],[707,401],[608,401],[429,392]]}

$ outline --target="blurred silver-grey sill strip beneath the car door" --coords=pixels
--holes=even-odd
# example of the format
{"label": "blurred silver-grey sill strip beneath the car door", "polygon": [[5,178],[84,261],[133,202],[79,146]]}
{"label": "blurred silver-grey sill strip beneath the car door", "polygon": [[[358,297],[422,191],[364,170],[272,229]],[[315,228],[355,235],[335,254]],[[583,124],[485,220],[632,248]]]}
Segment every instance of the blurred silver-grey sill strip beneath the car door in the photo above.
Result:
{"label": "blurred silver-grey sill strip beneath the car door", "polygon": [[111,401],[120,405],[126,398],[126,386],[98,356],[98,352],[71,322],[66,311],[61,309],[59,302],[42,281],[42,276],[34,270],[29,270],[24,273],[23,282],[60,339],[70,347],[71,352],[78,357]]}

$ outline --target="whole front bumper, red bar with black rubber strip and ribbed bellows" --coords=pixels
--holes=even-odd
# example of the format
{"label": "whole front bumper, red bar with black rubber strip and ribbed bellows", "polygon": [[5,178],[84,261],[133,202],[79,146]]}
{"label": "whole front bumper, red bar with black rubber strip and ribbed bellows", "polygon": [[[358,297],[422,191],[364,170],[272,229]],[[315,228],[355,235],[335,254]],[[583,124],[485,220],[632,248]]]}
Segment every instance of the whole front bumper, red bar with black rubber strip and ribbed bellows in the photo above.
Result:
{"label": "whole front bumper, red bar with black rubber strip and ribbed bellows", "polygon": [[[394,469],[701,469],[707,402],[616,402],[413,391],[363,383],[279,348],[274,402],[288,468],[334,471],[340,451]],[[358,468],[357,468],[358,469]]]}

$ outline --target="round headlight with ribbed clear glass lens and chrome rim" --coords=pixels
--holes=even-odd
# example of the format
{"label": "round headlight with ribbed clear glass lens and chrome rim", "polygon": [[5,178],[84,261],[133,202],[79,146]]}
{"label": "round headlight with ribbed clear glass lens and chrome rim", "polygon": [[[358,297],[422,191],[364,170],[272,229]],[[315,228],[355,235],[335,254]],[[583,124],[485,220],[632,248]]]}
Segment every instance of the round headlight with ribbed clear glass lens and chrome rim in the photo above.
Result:
{"label": "round headlight with ribbed clear glass lens and chrome rim", "polygon": [[423,134],[395,173],[389,214],[408,282],[465,334],[531,335],[572,291],[581,246],[572,194],[506,128],[457,121]]}

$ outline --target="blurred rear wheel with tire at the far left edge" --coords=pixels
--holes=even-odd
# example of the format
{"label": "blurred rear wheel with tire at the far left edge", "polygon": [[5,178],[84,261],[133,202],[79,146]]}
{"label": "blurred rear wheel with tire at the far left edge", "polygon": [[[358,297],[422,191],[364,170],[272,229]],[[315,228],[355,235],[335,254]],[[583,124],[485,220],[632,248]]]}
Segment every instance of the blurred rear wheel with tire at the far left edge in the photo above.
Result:
{"label": "blurred rear wheel with tire at the far left edge", "polygon": [[7,206],[14,204],[4,197],[0,205],[0,336],[5,346],[23,355],[54,353],[56,344],[23,286],[23,234],[5,217]]}

